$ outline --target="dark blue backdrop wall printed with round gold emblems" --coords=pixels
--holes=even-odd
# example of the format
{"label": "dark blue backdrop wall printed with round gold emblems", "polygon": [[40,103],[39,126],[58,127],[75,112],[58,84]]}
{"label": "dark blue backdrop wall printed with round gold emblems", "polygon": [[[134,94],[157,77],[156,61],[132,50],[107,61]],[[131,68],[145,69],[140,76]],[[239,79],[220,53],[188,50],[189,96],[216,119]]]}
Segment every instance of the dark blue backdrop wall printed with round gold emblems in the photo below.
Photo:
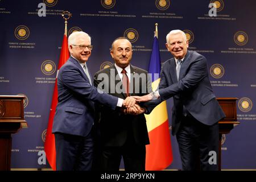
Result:
{"label": "dark blue backdrop wall printed with round gold emblems", "polygon": [[[46,16],[38,16],[38,4]],[[209,3],[217,16],[209,16]],[[64,20],[70,11],[69,34],[82,30],[92,36],[88,67],[92,75],[112,63],[112,41],[126,36],[133,43],[131,64],[148,69],[155,23],[159,28],[162,63],[171,54],[166,35],[183,30],[189,49],[208,59],[210,81],[217,97],[237,97],[240,125],[223,135],[222,168],[256,168],[256,1],[253,0],[73,0],[0,1],[0,94],[23,94],[28,129],[13,135],[11,168],[49,168],[42,154],[52,100]],[[169,121],[172,99],[168,100]],[[171,137],[174,161],[180,169],[176,138]]]}

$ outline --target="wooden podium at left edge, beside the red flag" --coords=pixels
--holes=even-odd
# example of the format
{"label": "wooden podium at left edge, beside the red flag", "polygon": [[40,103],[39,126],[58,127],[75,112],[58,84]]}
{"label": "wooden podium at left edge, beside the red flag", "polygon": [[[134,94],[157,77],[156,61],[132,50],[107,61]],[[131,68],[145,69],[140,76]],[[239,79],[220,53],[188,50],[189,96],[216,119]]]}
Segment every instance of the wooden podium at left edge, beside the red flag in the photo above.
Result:
{"label": "wooden podium at left edge, beside the red flag", "polygon": [[11,134],[27,127],[24,96],[0,96],[0,171],[11,169]]}

